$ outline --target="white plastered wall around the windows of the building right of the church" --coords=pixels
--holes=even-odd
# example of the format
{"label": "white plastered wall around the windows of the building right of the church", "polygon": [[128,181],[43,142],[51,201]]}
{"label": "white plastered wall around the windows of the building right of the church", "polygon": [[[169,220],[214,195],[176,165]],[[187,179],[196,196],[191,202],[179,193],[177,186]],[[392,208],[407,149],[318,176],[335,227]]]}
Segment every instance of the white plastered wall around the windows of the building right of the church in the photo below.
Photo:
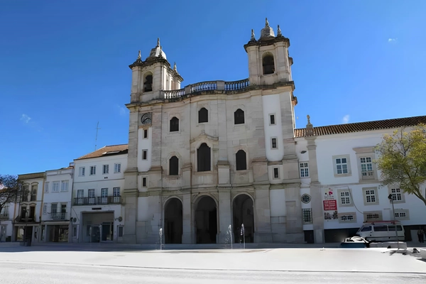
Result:
{"label": "white plastered wall around the windows of the building right of the church", "polygon": [[[322,200],[325,200],[326,193],[332,190],[334,200],[337,200],[338,219],[324,219],[324,229],[344,229],[359,228],[366,221],[366,214],[379,214],[383,220],[392,220],[392,204],[388,200],[388,195],[395,186],[382,186],[381,173],[373,164],[374,177],[371,180],[363,180],[361,175],[361,157],[371,157],[375,160],[376,153],[368,149],[381,143],[385,133],[392,133],[394,129],[364,131],[357,133],[344,133],[335,135],[317,136],[315,139],[317,172],[319,184],[310,185],[310,178],[301,178],[300,195],[308,194],[312,190],[322,192]],[[300,163],[307,161],[308,152],[302,154],[301,151],[307,151],[307,142],[305,138],[297,138],[297,155]],[[358,153],[357,151],[361,153]],[[362,153],[364,152],[364,153]],[[336,163],[334,158],[347,158],[349,173],[346,175],[336,174]],[[422,186],[425,192],[426,185]],[[367,202],[366,190],[375,190],[376,202]],[[339,201],[340,192],[349,192],[350,204],[342,204]],[[425,193],[423,193],[425,194]],[[426,206],[415,195],[402,193],[401,201],[395,201],[395,213],[404,212],[405,217],[396,217],[403,225],[422,225],[425,224]],[[302,208],[310,208],[311,204],[302,203]],[[324,214],[324,211],[322,212]],[[354,219],[342,221],[341,215],[354,215]],[[370,221],[370,220],[368,220]],[[312,226],[312,225],[311,225]],[[310,229],[310,225],[304,225],[304,229]]]}

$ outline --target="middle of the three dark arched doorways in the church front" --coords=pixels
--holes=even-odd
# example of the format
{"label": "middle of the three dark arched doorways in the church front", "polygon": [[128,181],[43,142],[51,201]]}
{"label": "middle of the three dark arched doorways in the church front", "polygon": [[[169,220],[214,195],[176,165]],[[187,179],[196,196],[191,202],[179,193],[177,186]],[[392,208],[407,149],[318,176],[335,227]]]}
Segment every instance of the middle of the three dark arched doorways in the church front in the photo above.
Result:
{"label": "middle of the three dark arched doorways in the church front", "polygon": [[195,209],[197,244],[216,244],[217,207],[212,197],[204,196]]}

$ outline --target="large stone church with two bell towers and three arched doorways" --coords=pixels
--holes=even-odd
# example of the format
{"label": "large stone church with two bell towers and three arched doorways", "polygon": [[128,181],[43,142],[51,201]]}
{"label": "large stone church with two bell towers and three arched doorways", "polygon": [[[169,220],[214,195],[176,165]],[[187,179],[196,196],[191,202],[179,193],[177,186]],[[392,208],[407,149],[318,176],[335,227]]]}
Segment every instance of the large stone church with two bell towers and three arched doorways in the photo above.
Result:
{"label": "large stone church with two bell towers and three arched doorways", "polygon": [[297,98],[288,48],[266,20],[244,45],[249,78],[181,87],[160,45],[132,72],[124,242],[304,241]]}

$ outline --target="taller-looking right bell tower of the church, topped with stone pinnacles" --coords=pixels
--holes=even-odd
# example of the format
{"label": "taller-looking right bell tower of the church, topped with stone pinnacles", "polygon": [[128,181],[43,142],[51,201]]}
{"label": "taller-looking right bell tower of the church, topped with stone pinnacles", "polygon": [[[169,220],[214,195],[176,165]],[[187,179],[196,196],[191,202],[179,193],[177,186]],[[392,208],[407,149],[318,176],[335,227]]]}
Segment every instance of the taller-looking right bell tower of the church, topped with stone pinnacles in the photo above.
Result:
{"label": "taller-looking right bell tower of the church, topped with stone pinnacles", "polygon": [[289,47],[290,40],[283,36],[280,26],[278,25],[275,36],[268,18],[258,40],[251,30],[251,40],[244,45],[249,55],[250,84],[271,85],[293,81],[291,77],[293,58],[288,55]]}

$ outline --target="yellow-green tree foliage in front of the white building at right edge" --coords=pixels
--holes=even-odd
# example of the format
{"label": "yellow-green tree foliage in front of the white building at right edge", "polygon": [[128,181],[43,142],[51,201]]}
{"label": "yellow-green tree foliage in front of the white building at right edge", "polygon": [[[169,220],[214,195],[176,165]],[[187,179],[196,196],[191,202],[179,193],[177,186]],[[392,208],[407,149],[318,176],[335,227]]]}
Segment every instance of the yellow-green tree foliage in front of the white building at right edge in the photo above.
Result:
{"label": "yellow-green tree foliage in front of the white building at right edge", "polygon": [[422,192],[422,184],[426,182],[426,126],[385,135],[376,151],[383,185],[398,184],[401,190],[415,195],[426,205],[426,194]]}

